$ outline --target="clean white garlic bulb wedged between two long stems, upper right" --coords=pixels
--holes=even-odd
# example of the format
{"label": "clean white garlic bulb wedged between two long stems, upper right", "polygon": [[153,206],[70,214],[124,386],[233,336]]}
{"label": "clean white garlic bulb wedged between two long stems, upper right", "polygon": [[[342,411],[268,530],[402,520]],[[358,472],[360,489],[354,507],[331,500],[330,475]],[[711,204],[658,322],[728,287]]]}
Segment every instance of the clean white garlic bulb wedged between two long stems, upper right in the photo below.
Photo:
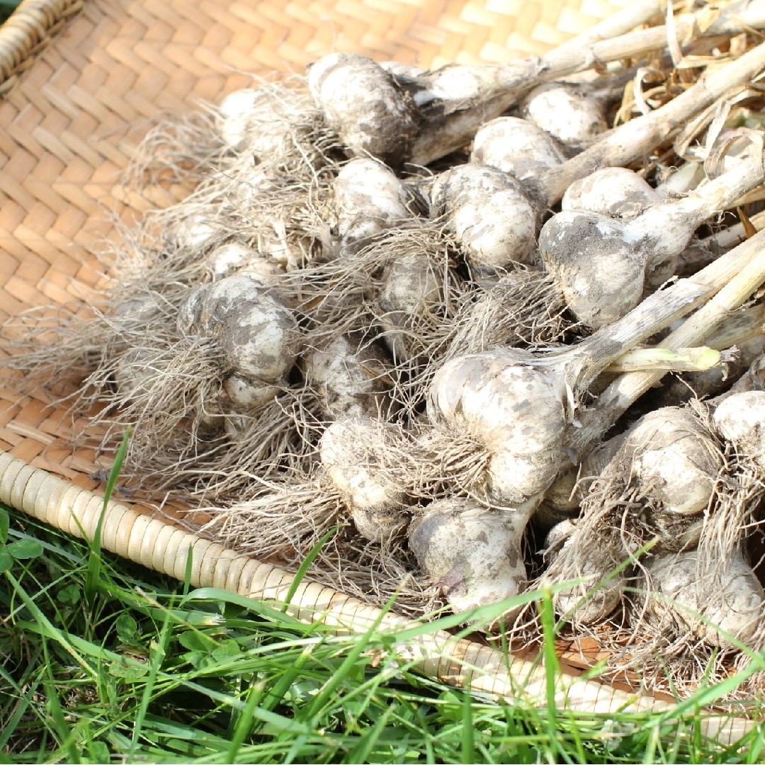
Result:
{"label": "clean white garlic bulb wedged between two long stems, upper right", "polygon": [[607,103],[574,83],[546,83],[530,90],[520,103],[529,122],[571,146],[597,138],[608,128]]}

